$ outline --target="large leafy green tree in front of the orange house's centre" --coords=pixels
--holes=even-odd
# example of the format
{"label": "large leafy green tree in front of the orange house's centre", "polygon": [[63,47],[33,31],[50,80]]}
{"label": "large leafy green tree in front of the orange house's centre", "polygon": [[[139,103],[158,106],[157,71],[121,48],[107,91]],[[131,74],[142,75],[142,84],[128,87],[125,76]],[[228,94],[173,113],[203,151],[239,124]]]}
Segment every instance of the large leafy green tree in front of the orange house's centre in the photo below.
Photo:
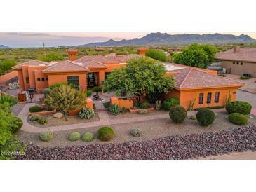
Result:
{"label": "large leafy green tree in front of the orange house's centre", "polygon": [[[173,88],[173,77],[166,77],[166,69],[162,64],[149,57],[135,57],[128,62],[127,67],[115,69],[103,88],[107,91],[126,90],[128,95],[135,95],[137,101],[147,95],[163,94]],[[159,96],[159,95],[158,95]]]}

